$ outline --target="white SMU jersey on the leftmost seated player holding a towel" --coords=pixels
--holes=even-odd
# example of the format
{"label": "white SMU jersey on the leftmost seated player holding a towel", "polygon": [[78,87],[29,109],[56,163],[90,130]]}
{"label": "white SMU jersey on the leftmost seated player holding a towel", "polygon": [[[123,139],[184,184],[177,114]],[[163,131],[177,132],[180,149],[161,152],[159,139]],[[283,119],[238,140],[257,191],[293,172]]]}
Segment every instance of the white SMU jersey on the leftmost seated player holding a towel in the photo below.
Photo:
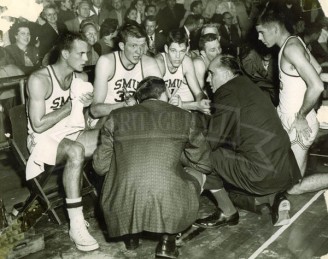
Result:
{"label": "white SMU jersey on the leftmost seated player holding a towel", "polygon": [[[49,65],[46,68],[47,68],[48,73],[50,75],[51,86],[52,86],[51,94],[45,100],[45,108],[46,108],[45,114],[48,114],[50,112],[58,110],[60,107],[62,107],[69,100],[70,87],[68,87],[67,90],[63,90],[60,87],[60,84],[57,80],[57,77],[56,77],[56,75],[53,71],[52,66]],[[75,75],[73,75],[71,84],[73,83],[75,78],[76,78]],[[33,132],[29,120],[28,120],[28,130],[29,130],[29,133]]]}

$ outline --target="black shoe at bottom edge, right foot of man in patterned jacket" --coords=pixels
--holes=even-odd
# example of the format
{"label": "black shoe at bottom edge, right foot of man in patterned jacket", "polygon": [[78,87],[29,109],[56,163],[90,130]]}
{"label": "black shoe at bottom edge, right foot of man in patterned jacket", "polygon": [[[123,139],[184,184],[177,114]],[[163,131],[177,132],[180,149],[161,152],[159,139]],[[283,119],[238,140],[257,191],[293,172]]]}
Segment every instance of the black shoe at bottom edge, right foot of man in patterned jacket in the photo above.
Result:
{"label": "black shoe at bottom edge, right foot of man in patterned jacket", "polygon": [[156,258],[178,258],[179,250],[175,244],[176,235],[163,235],[156,247]]}

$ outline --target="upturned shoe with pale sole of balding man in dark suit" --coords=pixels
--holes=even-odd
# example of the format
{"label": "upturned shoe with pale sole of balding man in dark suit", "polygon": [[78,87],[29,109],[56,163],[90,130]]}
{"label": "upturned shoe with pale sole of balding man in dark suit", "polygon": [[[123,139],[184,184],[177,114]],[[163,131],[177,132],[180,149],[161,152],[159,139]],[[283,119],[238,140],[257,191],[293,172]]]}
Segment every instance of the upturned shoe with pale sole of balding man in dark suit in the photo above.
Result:
{"label": "upturned shoe with pale sole of balding man in dark suit", "polygon": [[272,204],[272,224],[283,226],[289,224],[290,202],[283,193],[278,193]]}

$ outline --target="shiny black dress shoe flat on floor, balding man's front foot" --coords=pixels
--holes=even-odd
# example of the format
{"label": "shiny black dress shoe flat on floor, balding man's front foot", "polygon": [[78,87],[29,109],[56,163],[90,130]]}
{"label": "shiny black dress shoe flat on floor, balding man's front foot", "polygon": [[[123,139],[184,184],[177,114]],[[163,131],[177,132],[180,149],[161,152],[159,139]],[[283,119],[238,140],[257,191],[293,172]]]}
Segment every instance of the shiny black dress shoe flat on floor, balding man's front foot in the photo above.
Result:
{"label": "shiny black dress shoe flat on floor, balding man's front foot", "polygon": [[239,222],[239,213],[238,211],[235,214],[227,217],[223,214],[220,209],[217,209],[213,214],[210,216],[197,219],[194,223],[195,226],[202,227],[202,228],[218,228],[223,227],[226,225],[237,225]]}

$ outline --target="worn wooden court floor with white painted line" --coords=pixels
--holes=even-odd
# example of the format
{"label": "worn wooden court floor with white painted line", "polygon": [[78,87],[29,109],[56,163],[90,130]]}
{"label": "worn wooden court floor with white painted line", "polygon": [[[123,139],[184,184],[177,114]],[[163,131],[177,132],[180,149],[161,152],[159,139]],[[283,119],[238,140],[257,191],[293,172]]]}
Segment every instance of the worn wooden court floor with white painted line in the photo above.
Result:
{"label": "worn wooden court floor with white painted line", "polygon": [[[1,155],[1,153],[0,153]],[[7,211],[23,201],[28,192],[22,186],[22,173],[9,157],[0,160],[0,197]],[[327,160],[315,161],[312,170],[327,172]],[[311,163],[310,163],[311,165]],[[328,213],[323,192],[288,196],[292,204],[291,224],[274,227],[270,215],[257,215],[240,210],[240,223],[232,227],[204,230],[189,229],[180,240],[180,259],[193,258],[321,258],[328,254]],[[98,240],[100,249],[82,253],[76,250],[68,237],[68,225],[64,210],[58,209],[65,224],[59,226],[44,216],[36,225],[36,231],[45,236],[44,250],[25,258],[154,258],[157,240],[145,236],[135,251],[127,251],[122,242],[107,242],[103,223],[95,216],[91,198],[84,199],[85,215],[90,232]],[[201,198],[201,214],[210,213],[214,205],[206,197]],[[328,255],[327,255],[328,256]],[[328,257],[327,257],[328,258]]]}

